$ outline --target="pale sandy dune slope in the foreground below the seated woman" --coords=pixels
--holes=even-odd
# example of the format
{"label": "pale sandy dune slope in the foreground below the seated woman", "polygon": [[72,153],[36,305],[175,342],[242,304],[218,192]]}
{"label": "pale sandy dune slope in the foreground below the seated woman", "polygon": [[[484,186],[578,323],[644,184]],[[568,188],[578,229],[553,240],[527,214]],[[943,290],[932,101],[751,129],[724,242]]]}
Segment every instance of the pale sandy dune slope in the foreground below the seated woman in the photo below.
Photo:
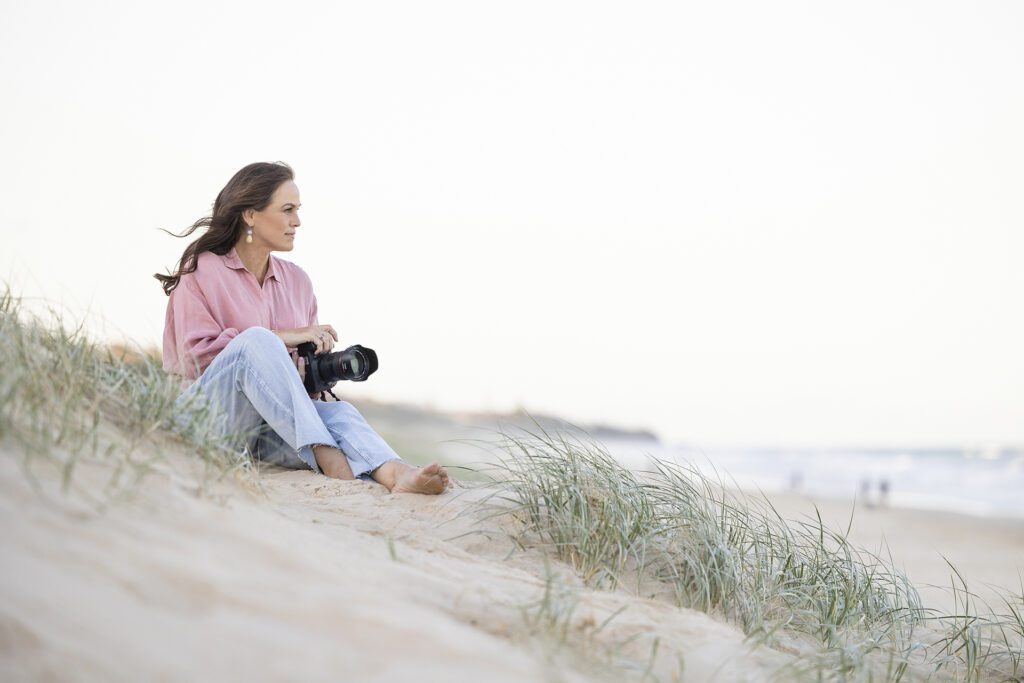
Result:
{"label": "pale sandy dune slope in the foreground below the seated woman", "polygon": [[[758,681],[787,661],[705,614],[547,572],[479,521],[479,490],[283,470],[262,490],[199,486],[171,453],[97,512],[45,468],[33,490],[17,460],[0,453],[2,680],[629,680],[655,639],[666,681],[681,663],[685,680]],[[95,492],[104,472],[76,480]]]}

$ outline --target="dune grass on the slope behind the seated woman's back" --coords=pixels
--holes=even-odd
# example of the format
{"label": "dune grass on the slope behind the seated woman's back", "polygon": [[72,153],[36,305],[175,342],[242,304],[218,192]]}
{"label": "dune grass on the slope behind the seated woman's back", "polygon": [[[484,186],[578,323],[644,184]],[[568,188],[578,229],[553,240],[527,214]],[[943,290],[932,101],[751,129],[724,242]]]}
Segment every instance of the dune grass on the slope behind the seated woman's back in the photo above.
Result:
{"label": "dune grass on the slope behind the seated woman's back", "polygon": [[[84,461],[108,465],[100,505],[130,494],[159,460],[168,438],[183,444],[212,477],[252,469],[202,398],[180,403],[180,386],[138,349],[103,346],[59,311],[27,310],[0,291],[0,439],[23,456],[25,471],[59,469],[65,490]],[[85,492],[95,494],[96,492]]]}

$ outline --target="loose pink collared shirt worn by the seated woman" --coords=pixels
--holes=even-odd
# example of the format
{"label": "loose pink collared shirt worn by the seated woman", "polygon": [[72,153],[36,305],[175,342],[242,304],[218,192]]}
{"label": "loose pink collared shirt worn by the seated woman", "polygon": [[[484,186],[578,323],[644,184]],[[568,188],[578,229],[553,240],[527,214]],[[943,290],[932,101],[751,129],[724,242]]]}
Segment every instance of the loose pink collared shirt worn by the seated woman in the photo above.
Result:
{"label": "loose pink collared shirt worn by the seated woman", "polygon": [[181,276],[167,302],[164,370],[185,386],[249,328],[316,324],[313,285],[299,266],[271,254],[260,287],[233,247],[223,256],[203,252],[196,270]]}

